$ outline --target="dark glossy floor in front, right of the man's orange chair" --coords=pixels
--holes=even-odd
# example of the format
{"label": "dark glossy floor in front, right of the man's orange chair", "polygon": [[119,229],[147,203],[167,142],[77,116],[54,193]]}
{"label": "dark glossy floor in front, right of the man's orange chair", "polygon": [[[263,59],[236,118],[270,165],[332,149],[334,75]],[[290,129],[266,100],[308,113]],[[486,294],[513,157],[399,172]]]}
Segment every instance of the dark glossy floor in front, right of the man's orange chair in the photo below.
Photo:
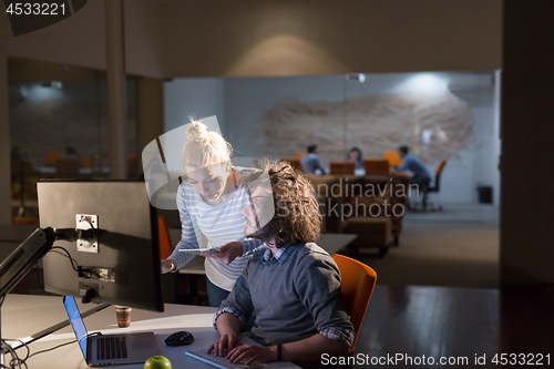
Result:
{"label": "dark glossy floor in front, right of the man's orange chair", "polygon": [[[377,286],[355,353],[368,360],[399,356],[375,368],[441,368],[440,358],[464,360],[464,368],[497,368],[492,360],[526,360],[554,367],[554,290],[505,293],[497,289]],[[523,358],[521,355],[525,355]],[[512,355],[512,356],[510,356]],[[546,357],[550,355],[550,357]],[[422,357],[428,365],[417,365]],[[406,360],[411,357],[413,361]],[[485,365],[476,365],[476,358]],[[355,356],[356,358],[356,356]],[[429,365],[429,358],[437,360]],[[381,359],[382,361],[383,359]],[[356,366],[357,367],[357,366]],[[522,367],[516,363],[513,368]]]}

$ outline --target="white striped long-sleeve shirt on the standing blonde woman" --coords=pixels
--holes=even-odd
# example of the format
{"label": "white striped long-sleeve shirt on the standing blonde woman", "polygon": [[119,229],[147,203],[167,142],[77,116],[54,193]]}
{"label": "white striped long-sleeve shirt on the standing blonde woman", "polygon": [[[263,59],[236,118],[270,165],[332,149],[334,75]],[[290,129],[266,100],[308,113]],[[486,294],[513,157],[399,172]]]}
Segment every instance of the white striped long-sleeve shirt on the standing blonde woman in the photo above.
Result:
{"label": "white striped long-sleeve shirt on the standing blonde woman", "polygon": [[247,192],[243,187],[236,187],[225,202],[207,205],[188,181],[183,182],[177,191],[177,208],[182,224],[181,240],[170,256],[177,262],[176,269],[182,268],[194,257],[179,249],[220,247],[229,242],[243,242],[243,256],[229,265],[220,265],[209,257],[205,260],[208,279],[223,289],[232,290],[250,256],[263,247],[261,240],[244,236],[246,221],[240,211],[248,204]]}

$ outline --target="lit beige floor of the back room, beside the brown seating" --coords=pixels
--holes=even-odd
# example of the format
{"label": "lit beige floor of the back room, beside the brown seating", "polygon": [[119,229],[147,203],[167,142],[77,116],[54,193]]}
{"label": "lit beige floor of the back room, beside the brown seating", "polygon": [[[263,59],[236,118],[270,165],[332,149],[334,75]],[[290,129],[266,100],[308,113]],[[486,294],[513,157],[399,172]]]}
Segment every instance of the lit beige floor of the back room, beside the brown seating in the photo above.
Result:
{"label": "lit beige floor of the back room, beside the brown seating", "polygon": [[400,246],[383,258],[360,249],[360,262],[377,271],[380,285],[497,288],[500,232],[497,209],[444,204],[437,213],[408,213]]}

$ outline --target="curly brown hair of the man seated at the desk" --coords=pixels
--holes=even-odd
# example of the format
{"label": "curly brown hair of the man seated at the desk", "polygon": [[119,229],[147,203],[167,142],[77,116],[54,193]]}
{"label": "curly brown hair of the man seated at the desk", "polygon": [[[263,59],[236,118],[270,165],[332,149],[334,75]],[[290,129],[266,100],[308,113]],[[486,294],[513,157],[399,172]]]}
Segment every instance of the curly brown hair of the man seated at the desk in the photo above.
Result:
{"label": "curly brown hair of the man seated at the desk", "polygon": [[321,230],[321,214],[316,192],[308,178],[290,163],[264,163],[271,182],[275,215],[249,237],[275,240],[277,248],[312,243]]}

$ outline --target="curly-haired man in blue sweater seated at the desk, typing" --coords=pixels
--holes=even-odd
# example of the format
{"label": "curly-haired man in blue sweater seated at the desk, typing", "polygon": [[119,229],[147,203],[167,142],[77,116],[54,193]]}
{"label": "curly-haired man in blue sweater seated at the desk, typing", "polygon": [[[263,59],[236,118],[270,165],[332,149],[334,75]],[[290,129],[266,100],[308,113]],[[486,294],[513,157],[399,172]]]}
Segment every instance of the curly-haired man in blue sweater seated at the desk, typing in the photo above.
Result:
{"label": "curly-haired man in blue sweater seated at the desk, typing", "polygon": [[[263,239],[264,255],[247,264],[230,295],[214,316],[219,339],[208,352],[239,362],[319,361],[322,353],[346,356],[355,338],[345,310],[340,274],[332,258],[314,244],[321,215],[308,180],[289,164],[268,164],[273,196],[252,193],[242,212],[248,237]],[[259,201],[259,198],[266,198]],[[267,204],[269,198],[270,204]],[[275,215],[261,228],[264,206]],[[265,224],[261,223],[261,224]],[[253,338],[264,346],[242,345],[239,330],[256,311]]]}

